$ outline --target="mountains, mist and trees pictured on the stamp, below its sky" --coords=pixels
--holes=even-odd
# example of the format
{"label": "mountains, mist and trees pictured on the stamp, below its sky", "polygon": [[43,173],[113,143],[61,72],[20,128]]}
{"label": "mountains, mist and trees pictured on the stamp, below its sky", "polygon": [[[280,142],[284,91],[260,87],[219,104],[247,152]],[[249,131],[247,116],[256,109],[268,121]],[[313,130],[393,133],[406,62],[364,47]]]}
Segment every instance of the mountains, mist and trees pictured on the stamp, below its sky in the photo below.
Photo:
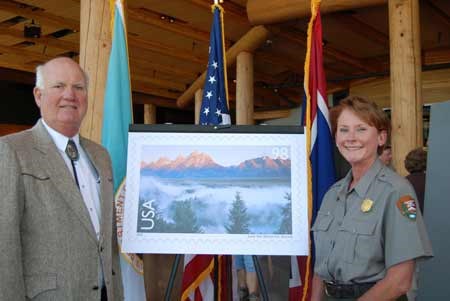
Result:
{"label": "mountains, mist and trees pictured on the stamp, below its sky", "polygon": [[257,156],[223,166],[193,151],[141,162],[141,233],[292,234],[291,160]]}

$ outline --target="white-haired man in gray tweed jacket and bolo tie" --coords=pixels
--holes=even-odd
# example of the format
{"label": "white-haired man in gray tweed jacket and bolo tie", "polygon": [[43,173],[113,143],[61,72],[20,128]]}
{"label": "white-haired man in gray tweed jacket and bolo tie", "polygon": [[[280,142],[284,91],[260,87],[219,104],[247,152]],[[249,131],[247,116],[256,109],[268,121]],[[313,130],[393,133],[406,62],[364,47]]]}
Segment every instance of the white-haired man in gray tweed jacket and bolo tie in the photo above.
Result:
{"label": "white-haired man in gray tweed jacket and bolo tie", "polygon": [[123,300],[111,161],[78,132],[87,77],[39,66],[41,119],[0,138],[0,300]]}

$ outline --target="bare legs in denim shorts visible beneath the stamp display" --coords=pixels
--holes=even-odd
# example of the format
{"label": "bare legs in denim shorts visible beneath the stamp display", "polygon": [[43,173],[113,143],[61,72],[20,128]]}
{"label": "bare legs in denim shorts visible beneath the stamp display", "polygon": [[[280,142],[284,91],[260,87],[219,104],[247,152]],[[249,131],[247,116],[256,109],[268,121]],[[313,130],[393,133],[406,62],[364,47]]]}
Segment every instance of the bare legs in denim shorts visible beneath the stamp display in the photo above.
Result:
{"label": "bare legs in denim shorts visible beneath the stamp display", "polygon": [[238,277],[239,301],[258,301],[258,277],[252,255],[235,255],[234,264]]}

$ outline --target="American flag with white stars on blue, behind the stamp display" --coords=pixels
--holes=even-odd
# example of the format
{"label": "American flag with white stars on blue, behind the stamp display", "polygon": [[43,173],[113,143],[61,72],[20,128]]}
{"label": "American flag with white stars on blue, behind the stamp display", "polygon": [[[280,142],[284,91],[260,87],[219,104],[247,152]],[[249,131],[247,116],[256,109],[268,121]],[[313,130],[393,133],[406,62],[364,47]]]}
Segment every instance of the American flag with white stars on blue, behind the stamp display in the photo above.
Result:
{"label": "American flag with white stars on blue, behind the stamp display", "polygon": [[[202,106],[200,110],[201,125],[230,124],[230,113],[227,106],[227,76],[224,56],[222,31],[222,12],[220,5],[213,5],[213,24],[211,27],[209,58],[206,80],[203,88]],[[219,300],[227,300],[226,289],[227,256],[218,256],[218,278],[216,295]],[[181,300],[209,301],[214,300],[214,256],[185,255]]]}

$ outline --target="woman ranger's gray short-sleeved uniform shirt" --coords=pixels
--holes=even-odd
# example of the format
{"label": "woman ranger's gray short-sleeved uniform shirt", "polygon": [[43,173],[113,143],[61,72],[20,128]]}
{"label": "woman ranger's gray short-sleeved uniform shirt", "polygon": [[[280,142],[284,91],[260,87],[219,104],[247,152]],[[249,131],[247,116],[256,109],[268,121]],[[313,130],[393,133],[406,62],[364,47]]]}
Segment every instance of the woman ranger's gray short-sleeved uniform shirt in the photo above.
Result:
{"label": "woman ranger's gray short-sleeved uniform shirt", "polygon": [[376,159],[348,191],[351,180],[350,171],[325,194],[312,227],[319,277],[339,283],[375,282],[395,264],[433,256],[420,210],[408,215],[402,207],[417,200],[404,178]]}

